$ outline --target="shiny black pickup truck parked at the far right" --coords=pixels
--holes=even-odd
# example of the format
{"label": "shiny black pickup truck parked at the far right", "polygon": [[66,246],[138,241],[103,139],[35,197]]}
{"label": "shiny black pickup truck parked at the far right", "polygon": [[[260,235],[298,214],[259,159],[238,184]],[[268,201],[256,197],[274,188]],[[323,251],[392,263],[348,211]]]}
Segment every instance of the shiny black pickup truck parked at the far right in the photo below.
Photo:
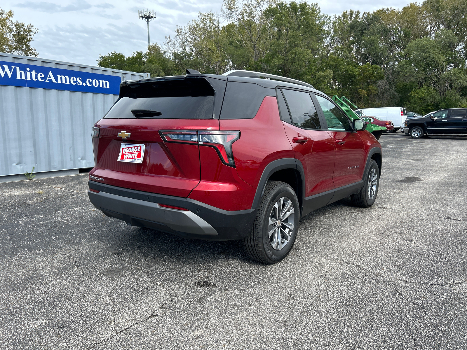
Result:
{"label": "shiny black pickup truck parked at the far right", "polygon": [[406,119],[403,132],[412,139],[467,134],[467,108],[441,109],[423,118]]}

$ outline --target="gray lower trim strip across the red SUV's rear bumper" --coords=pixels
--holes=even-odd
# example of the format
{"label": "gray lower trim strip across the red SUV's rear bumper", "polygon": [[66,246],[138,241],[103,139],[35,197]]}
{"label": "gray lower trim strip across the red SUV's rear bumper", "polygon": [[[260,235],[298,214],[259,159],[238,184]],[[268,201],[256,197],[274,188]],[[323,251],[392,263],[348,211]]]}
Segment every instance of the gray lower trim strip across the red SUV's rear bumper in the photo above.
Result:
{"label": "gray lower trim strip across the red SUV's rear bumper", "polygon": [[191,211],[163,208],[157,203],[116,196],[105,192],[88,191],[92,205],[99,210],[109,210],[123,217],[148,220],[168,226],[173,231],[196,235],[217,236],[218,232]]}

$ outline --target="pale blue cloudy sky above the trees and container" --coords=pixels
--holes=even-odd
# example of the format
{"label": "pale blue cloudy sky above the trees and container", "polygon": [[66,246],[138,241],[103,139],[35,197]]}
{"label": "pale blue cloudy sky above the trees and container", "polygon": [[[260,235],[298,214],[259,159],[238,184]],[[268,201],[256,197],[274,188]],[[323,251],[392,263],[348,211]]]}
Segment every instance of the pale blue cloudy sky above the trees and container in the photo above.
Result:
{"label": "pale blue cloudy sky above the trees and container", "polygon": [[[314,2],[314,1],[313,1]],[[318,1],[326,14],[347,9],[372,11],[381,7],[405,6],[408,0],[324,0]],[[39,57],[96,65],[99,54],[113,50],[131,55],[147,48],[146,22],[138,10],[149,8],[157,18],[149,23],[151,43],[163,45],[177,25],[184,26],[198,12],[220,12],[222,0],[2,0],[3,10],[13,10],[14,20],[31,23],[39,33],[33,47]]]}

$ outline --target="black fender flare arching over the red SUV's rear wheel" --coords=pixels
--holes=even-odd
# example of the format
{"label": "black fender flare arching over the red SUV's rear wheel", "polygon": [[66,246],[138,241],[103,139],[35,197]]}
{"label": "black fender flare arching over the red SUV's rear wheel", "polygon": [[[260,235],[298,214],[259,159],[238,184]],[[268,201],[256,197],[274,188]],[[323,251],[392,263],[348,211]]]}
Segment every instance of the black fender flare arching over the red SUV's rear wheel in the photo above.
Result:
{"label": "black fender flare arching over the red SUV's rear wheel", "polygon": [[295,169],[300,173],[302,178],[302,203],[300,203],[300,211],[303,208],[303,200],[305,198],[305,173],[303,169],[302,162],[295,158],[281,158],[271,161],[263,170],[260,181],[258,182],[258,187],[256,188],[255,197],[253,199],[253,204],[251,209],[259,208],[261,197],[264,194],[264,189],[266,188],[266,182],[268,182],[269,177],[278,170],[282,169]]}

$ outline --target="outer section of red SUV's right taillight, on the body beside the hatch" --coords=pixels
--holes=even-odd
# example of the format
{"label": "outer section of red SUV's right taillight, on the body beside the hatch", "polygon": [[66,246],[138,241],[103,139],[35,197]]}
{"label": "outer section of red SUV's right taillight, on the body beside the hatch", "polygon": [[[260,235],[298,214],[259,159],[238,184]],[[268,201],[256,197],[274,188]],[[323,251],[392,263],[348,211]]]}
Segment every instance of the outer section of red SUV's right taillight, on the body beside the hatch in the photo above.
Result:
{"label": "outer section of red SUV's right taillight, on the body beside the hatch", "polygon": [[198,142],[203,146],[214,147],[220,160],[230,167],[235,168],[233,160],[232,144],[240,139],[240,131],[233,130],[200,130]]}

